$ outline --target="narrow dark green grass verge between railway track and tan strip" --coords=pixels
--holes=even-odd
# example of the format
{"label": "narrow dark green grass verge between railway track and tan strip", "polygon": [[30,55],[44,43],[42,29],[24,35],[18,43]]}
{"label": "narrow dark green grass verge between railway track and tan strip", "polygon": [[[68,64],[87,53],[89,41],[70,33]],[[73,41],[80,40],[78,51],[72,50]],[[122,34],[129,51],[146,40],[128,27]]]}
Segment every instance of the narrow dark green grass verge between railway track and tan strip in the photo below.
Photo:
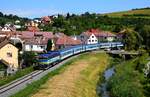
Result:
{"label": "narrow dark green grass verge between railway track and tan strip", "polygon": [[[80,55],[78,58],[82,59],[85,56],[85,54]],[[60,68],[48,73],[47,75],[45,75],[44,77],[42,77],[40,80],[37,80],[31,84],[29,84],[25,89],[19,91],[18,93],[12,95],[11,97],[30,97],[31,95],[37,93],[40,89],[40,87],[45,84],[49,78],[58,75],[62,72],[64,72],[66,70],[66,68],[71,65],[72,62],[77,61],[78,58],[72,59],[70,61],[68,61],[67,63],[65,63],[64,65],[62,65]]]}

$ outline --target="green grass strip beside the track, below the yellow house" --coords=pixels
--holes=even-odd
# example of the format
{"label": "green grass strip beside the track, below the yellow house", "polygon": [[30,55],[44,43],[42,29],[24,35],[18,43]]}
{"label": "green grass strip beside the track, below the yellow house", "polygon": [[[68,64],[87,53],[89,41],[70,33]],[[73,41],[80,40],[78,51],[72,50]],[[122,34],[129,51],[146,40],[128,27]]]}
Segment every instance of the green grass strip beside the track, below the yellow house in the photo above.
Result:
{"label": "green grass strip beside the track, below the yellow house", "polygon": [[28,67],[28,68],[17,71],[16,74],[14,75],[3,77],[0,79],[0,86],[10,83],[26,74],[31,73],[32,71],[33,71],[33,67]]}

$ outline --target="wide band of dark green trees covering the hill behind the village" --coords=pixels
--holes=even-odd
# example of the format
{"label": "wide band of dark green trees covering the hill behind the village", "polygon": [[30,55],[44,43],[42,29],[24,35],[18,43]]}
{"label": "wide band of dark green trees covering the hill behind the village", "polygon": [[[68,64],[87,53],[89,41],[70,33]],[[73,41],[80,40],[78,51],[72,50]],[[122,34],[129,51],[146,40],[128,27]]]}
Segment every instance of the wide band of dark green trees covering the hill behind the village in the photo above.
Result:
{"label": "wide band of dark green trees covering the hill behind the village", "polygon": [[82,15],[67,14],[66,17],[58,15],[52,24],[40,26],[44,31],[64,32],[67,35],[80,34],[91,28],[100,28],[114,32],[121,31],[124,27],[135,27],[136,24],[150,24],[150,19],[109,17],[107,15],[84,13]]}

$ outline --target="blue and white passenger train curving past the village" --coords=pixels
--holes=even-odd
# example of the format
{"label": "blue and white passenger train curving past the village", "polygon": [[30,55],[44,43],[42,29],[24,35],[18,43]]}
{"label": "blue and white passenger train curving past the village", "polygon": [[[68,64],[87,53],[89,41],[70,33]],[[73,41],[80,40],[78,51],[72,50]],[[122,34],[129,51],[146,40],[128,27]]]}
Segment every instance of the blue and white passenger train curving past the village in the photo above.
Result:
{"label": "blue and white passenger train curving past the village", "polygon": [[39,54],[37,56],[38,62],[34,66],[36,70],[47,70],[62,60],[71,57],[73,55],[77,55],[83,52],[98,50],[98,49],[107,49],[112,47],[122,47],[123,44],[121,42],[107,42],[107,43],[99,43],[99,44],[84,44],[84,45],[76,45],[70,46],[68,48],[49,51],[44,54]]}

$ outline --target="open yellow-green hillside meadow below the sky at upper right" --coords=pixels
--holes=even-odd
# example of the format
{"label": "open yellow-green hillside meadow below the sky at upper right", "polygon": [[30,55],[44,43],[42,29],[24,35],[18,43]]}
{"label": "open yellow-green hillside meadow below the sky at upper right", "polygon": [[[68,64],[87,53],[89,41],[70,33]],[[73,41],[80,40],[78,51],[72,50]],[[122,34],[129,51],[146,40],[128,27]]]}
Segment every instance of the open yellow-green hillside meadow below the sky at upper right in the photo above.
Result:
{"label": "open yellow-green hillside meadow below the sky at upper right", "polygon": [[150,18],[150,8],[133,9],[129,11],[113,12],[105,14],[111,17],[141,17]]}

